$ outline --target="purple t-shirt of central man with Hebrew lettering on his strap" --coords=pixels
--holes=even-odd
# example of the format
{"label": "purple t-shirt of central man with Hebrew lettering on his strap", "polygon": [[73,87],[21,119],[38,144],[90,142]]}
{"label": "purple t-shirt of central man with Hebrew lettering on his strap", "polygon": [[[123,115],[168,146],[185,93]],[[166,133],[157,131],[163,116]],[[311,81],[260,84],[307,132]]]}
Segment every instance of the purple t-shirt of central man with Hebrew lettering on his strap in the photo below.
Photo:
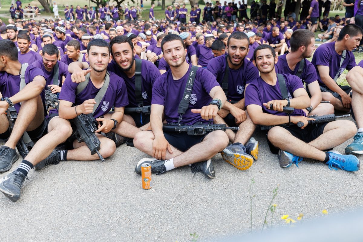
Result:
{"label": "purple t-shirt of central man with Hebrew lettering on his strap", "polygon": [[[192,65],[189,65],[187,73],[185,73],[185,75],[179,80],[174,80],[171,70],[168,70],[166,73],[162,74],[158,80],[156,80],[152,88],[151,104],[164,106],[164,117],[168,123],[178,122],[178,106],[183,97],[185,85],[187,84],[191,68]],[[196,122],[208,123],[211,121],[203,120],[199,113],[192,113],[191,109],[200,109],[203,106],[208,105],[209,102],[212,101],[212,98],[209,96],[209,92],[215,86],[219,86],[219,84],[213,74],[208,70],[199,68],[195,74],[188,109],[181,119],[182,124],[191,125]]]}

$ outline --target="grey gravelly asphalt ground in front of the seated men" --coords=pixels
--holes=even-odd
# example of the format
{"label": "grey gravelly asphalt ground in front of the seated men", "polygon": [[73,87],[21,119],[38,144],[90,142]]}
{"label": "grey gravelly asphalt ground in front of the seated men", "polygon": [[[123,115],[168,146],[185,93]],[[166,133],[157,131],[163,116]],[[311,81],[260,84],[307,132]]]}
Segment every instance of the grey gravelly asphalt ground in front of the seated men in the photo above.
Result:
{"label": "grey gravelly asphalt ground in front of the seated men", "polygon": [[[243,235],[250,230],[252,178],[256,230],[276,186],[274,226],[284,224],[281,214],[319,219],[323,209],[330,215],[362,205],[362,171],[329,170],[313,161],[282,169],[265,134],[257,131],[254,137],[260,154],[250,169],[237,170],[217,154],[214,179],[191,173],[187,166],[153,175],[150,190],[142,189],[141,176],[134,173],[145,155],[126,145],[103,163],[65,161],[32,170],[19,201],[0,194],[1,241],[191,241],[194,232],[198,241],[216,241]],[[350,142],[336,149],[343,153]]]}

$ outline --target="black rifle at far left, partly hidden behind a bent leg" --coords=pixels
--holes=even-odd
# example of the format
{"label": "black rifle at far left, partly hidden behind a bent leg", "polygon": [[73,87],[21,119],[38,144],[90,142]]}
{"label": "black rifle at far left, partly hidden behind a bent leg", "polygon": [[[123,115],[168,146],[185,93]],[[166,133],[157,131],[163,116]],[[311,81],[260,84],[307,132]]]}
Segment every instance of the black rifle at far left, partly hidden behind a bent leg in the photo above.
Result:
{"label": "black rifle at far left, partly hidden behind a bent leg", "polygon": [[[15,107],[14,106],[9,107],[5,111],[5,115],[9,121],[9,131],[11,133],[13,131],[16,118],[18,117]],[[23,157],[23,159],[29,153],[29,151],[33,148],[33,146],[34,146],[34,143],[30,139],[30,137],[26,131],[24,132],[23,136],[21,136],[20,140],[16,143],[16,148],[18,149],[19,154],[21,155],[21,157]]]}

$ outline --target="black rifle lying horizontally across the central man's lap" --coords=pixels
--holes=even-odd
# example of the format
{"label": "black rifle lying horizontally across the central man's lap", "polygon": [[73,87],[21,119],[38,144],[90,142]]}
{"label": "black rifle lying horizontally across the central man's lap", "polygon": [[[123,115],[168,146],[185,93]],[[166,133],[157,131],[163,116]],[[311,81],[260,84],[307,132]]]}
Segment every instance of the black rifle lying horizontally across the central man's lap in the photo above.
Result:
{"label": "black rifle lying horizontally across the central man's lap", "polygon": [[193,124],[193,125],[184,125],[184,124],[164,124],[163,131],[164,132],[187,132],[188,135],[198,135],[198,134],[206,134],[215,130],[238,130],[239,127],[227,127],[225,124]]}

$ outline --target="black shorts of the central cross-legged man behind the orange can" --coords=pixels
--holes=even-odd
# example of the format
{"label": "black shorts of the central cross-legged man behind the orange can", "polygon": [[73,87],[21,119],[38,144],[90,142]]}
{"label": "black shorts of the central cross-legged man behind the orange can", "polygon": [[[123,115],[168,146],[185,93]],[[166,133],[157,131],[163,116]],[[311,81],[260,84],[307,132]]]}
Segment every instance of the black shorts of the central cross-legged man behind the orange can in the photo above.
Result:
{"label": "black shorts of the central cross-legged man behind the orange can", "polygon": [[164,132],[164,136],[166,140],[169,142],[169,144],[174,146],[176,149],[180,150],[181,152],[185,152],[193,145],[202,142],[207,134],[188,135],[186,132],[184,133]]}

